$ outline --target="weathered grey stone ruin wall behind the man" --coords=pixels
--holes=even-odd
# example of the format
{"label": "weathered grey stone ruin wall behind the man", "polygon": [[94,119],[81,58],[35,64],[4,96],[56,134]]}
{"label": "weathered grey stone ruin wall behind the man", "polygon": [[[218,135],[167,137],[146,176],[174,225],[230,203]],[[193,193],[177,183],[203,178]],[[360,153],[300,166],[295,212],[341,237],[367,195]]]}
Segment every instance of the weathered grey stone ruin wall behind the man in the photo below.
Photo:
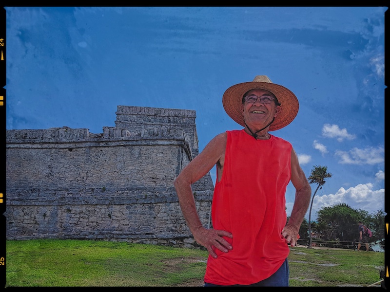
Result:
{"label": "weathered grey stone ruin wall behind the man", "polygon": [[[197,246],[173,182],[198,153],[195,111],[118,106],[116,127],[6,131],[7,239]],[[210,174],[193,185],[210,224]]]}

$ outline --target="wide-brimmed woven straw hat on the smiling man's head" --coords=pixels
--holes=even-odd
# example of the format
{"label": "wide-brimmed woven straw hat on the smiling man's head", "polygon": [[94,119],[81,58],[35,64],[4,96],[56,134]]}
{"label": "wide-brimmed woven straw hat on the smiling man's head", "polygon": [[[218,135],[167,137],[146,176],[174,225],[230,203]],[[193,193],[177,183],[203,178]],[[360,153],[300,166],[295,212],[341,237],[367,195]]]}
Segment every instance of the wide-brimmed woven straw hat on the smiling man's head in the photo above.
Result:
{"label": "wide-brimmed woven straw hat on the smiling man's head", "polygon": [[257,75],[252,82],[244,82],[229,87],[222,97],[223,108],[227,114],[238,124],[245,127],[244,116],[240,109],[244,93],[253,89],[264,89],[272,92],[282,107],[276,116],[269,131],[286,127],[298,113],[299,103],[295,94],[287,88],[272,83],[266,75]]}

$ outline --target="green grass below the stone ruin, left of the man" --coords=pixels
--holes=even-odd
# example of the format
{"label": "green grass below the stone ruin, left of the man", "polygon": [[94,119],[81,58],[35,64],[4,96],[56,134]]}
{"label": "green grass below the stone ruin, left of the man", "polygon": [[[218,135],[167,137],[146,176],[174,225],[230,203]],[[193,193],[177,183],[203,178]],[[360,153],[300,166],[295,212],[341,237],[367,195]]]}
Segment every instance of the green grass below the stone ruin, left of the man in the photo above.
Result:
{"label": "green grass below the stone ruin, left of the man", "polygon": [[89,240],[7,241],[7,286],[178,286],[203,277],[207,253]]}

